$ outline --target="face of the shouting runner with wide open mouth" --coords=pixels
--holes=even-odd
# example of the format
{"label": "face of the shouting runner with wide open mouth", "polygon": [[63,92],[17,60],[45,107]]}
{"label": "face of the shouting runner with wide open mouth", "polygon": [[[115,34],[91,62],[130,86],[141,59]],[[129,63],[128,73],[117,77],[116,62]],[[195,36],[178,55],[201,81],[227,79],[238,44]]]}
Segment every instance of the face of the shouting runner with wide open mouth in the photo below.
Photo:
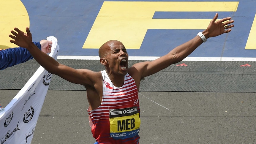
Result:
{"label": "face of the shouting runner with wide open mouth", "polygon": [[128,54],[124,45],[121,42],[111,42],[109,44],[110,49],[107,50],[106,59],[110,71],[126,75],[128,70]]}

